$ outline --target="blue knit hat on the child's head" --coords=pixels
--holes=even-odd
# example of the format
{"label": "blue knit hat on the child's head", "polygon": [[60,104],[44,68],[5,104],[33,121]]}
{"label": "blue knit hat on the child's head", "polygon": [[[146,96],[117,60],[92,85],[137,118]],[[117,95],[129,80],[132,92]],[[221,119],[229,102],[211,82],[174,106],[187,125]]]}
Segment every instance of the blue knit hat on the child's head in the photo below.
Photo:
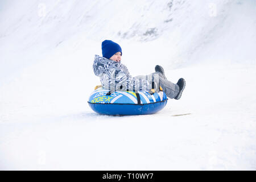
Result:
{"label": "blue knit hat on the child's head", "polygon": [[122,55],[122,48],[112,40],[104,40],[104,42],[101,43],[101,49],[102,56],[108,59],[117,52],[121,52]]}

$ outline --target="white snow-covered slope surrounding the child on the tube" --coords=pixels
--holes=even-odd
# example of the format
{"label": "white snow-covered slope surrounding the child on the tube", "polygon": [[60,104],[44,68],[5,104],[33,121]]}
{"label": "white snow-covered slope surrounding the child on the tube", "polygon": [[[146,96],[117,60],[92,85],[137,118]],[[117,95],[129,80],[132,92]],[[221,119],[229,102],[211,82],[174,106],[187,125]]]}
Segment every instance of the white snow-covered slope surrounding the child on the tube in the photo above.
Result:
{"label": "white snow-covered slope surrounding the child on the tube", "polygon": [[[256,169],[254,0],[3,0],[0,27],[1,170]],[[180,100],[94,113],[105,39],[133,76],[185,78]]]}

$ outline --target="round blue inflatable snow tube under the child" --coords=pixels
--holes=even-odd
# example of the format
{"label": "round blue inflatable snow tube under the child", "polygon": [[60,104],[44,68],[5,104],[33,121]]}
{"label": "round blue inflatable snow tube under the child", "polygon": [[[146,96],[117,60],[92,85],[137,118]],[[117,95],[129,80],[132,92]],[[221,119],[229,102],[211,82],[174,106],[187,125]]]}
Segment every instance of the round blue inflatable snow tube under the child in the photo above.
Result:
{"label": "round blue inflatable snow tube under the child", "polygon": [[108,115],[141,115],[153,114],[162,110],[167,104],[167,96],[163,91],[150,94],[146,91],[116,91],[98,88],[90,94],[89,106],[96,113]]}

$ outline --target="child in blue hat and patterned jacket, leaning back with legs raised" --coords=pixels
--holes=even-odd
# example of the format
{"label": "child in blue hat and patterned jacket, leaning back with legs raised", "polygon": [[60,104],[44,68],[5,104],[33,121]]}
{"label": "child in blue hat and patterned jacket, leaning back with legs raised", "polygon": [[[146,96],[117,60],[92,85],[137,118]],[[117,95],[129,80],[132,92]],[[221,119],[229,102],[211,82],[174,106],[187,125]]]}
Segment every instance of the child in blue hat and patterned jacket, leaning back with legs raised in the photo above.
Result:
{"label": "child in blue hat and patterned jacket, leaning back with legs raised", "polygon": [[146,76],[132,77],[125,65],[121,64],[122,48],[112,40],[104,40],[101,44],[102,57],[95,55],[93,71],[100,77],[102,88],[114,92],[149,91],[162,87],[166,96],[179,100],[185,88],[185,80],[180,78],[177,84],[168,81],[160,65],[155,66],[155,73]]}

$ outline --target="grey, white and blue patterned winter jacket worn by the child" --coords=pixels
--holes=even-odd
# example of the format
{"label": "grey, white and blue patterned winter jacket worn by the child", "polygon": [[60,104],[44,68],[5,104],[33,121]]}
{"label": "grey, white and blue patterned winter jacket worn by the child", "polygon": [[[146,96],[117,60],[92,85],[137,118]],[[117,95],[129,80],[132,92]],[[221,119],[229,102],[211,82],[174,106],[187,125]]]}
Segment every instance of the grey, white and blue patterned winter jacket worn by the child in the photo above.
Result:
{"label": "grey, white and blue patterned winter jacket worn by the child", "polygon": [[100,77],[104,89],[136,91],[152,88],[152,84],[148,81],[151,78],[147,79],[147,76],[132,77],[125,65],[105,57],[95,55],[93,71],[96,76]]}

